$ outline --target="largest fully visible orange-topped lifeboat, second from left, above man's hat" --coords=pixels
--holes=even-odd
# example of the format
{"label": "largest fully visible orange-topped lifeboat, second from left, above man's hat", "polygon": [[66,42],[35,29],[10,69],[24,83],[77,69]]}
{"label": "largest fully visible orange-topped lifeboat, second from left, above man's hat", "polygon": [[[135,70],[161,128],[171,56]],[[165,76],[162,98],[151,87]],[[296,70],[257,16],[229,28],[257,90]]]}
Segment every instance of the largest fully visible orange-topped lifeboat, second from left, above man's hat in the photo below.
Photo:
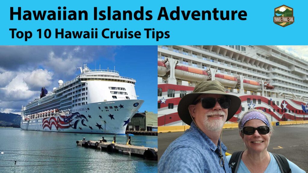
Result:
{"label": "largest fully visible orange-topped lifeboat, second from left, above man's hat", "polygon": [[187,81],[201,82],[208,79],[208,74],[205,70],[199,70],[186,66],[175,66],[175,77]]}

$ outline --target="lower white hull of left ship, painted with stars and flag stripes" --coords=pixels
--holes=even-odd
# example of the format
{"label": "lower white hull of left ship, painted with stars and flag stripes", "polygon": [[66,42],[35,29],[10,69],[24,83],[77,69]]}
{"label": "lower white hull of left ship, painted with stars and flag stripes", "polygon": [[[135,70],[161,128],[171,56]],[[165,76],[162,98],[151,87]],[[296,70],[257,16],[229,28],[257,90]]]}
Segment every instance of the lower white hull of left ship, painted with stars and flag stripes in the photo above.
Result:
{"label": "lower white hull of left ship, painted with stars and flag stripes", "polygon": [[22,130],[125,135],[143,100],[119,100],[74,107],[69,115],[23,120]]}

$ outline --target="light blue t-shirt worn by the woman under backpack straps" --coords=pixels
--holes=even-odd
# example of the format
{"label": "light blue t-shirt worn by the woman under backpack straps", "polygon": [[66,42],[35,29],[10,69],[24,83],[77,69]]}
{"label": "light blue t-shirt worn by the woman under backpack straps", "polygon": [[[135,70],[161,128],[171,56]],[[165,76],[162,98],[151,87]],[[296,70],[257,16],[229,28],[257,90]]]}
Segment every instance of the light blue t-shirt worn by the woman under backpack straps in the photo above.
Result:
{"label": "light blue t-shirt worn by the woman under backpack straps", "polygon": [[[229,163],[231,155],[226,156],[226,158],[227,158],[228,163]],[[290,165],[290,169],[291,169],[292,173],[293,172],[294,173],[306,173],[304,170],[299,168],[296,164],[294,164],[290,160],[287,159],[287,161]],[[273,173],[273,172],[280,172],[280,169],[278,167],[278,163],[277,163],[276,159],[274,158],[272,153],[270,153],[270,163],[267,166],[267,168],[265,169],[264,173]],[[250,173],[250,171],[248,170],[248,168],[246,167],[245,163],[242,160],[241,160],[240,165],[238,167],[237,173]]]}

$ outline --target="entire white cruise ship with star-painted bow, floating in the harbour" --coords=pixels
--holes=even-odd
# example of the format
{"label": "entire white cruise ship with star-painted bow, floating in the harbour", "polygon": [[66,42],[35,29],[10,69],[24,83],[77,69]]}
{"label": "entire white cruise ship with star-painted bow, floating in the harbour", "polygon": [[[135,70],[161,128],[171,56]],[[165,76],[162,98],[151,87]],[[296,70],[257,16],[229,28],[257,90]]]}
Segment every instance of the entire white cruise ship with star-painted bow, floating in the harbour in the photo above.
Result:
{"label": "entire white cruise ship with star-painted bow, floating in the harbour", "polygon": [[48,93],[42,88],[21,110],[22,130],[125,135],[127,124],[143,100],[137,99],[133,78],[115,70],[90,70]]}

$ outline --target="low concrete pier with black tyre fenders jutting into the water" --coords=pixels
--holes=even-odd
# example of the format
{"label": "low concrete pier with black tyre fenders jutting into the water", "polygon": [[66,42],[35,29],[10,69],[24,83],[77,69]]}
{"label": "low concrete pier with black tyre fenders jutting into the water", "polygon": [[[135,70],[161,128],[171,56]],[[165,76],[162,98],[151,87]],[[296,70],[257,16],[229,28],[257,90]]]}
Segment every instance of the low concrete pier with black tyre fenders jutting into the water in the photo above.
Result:
{"label": "low concrete pier with black tyre fenders jutting into the water", "polygon": [[[136,155],[143,157],[144,159],[150,160],[157,160],[157,148],[149,148],[145,146],[134,146],[130,144],[118,144],[118,143],[110,143],[106,142],[106,140],[101,139],[98,141],[92,140],[83,140],[76,141],[77,145],[87,147],[87,148],[94,148],[100,151],[107,151],[107,152],[119,152],[127,155]],[[129,143],[129,142],[128,142]]]}

